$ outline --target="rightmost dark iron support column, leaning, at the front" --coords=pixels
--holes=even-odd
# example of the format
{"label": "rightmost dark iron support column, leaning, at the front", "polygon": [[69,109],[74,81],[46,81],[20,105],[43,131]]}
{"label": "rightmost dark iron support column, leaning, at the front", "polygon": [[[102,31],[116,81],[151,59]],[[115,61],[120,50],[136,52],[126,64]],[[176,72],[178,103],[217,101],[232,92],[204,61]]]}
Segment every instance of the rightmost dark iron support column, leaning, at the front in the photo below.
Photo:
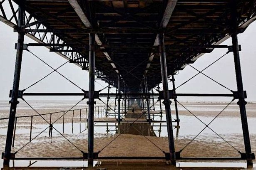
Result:
{"label": "rightmost dark iron support column, leaning, at the front", "polygon": [[[239,94],[239,101],[237,104],[240,108],[241,114],[241,121],[242,121],[242,129],[244,135],[244,146],[246,155],[251,154],[251,143],[250,143],[250,136],[249,136],[249,128],[246,116],[246,101],[244,96],[244,87],[243,87],[243,80],[242,80],[242,73],[241,73],[241,65],[240,65],[240,57],[239,57],[239,44],[237,35],[232,35],[232,45],[233,45],[233,53],[234,53],[234,62],[235,62],[235,70],[236,70],[236,84],[237,84],[237,91]],[[253,161],[252,159],[247,157],[247,165],[252,166]]]}

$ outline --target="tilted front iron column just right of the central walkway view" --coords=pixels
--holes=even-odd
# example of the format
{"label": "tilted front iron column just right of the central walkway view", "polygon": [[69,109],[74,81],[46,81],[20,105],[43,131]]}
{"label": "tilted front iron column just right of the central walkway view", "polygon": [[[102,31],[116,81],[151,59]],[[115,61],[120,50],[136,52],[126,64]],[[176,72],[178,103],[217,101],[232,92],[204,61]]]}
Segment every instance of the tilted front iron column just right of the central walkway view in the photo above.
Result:
{"label": "tilted front iron column just right of the central walkway view", "polygon": [[165,106],[165,114],[167,121],[167,133],[168,133],[168,141],[169,141],[169,152],[170,152],[170,160],[172,165],[176,165],[176,156],[175,156],[175,148],[174,148],[174,136],[171,122],[171,106],[170,103],[170,95],[168,88],[168,75],[167,75],[167,64],[166,64],[166,55],[165,55],[165,46],[164,46],[164,34],[159,34],[159,52],[160,52],[160,64],[161,64],[161,73],[162,73],[162,81],[163,81],[163,90],[164,90],[164,106]]}

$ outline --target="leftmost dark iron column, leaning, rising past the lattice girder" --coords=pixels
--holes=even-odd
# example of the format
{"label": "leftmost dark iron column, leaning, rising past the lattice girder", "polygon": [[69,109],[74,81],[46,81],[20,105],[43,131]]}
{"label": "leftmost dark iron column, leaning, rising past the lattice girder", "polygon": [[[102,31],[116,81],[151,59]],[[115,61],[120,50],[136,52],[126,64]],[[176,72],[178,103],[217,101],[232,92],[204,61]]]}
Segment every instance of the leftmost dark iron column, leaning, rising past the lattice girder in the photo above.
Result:
{"label": "leftmost dark iron column, leaning, rising past the lattice girder", "polygon": [[18,20],[18,41],[17,41],[17,52],[16,52],[16,61],[15,61],[15,70],[14,70],[14,78],[13,78],[13,86],[12,86],[12,94],[11,100],[9,103],[10,106],[10,115],[9,115],[9,122],[7,128],[7,136],[6,136],[6,143],[5,143],[5,153],[4,153],[4,167],[9,167],[10,157],[11,157],[11,148],[12,148],[12,136],[13,136],[13,129],[15,124],[15,115],[16,115],[16,108],[18,101],[18,91],[20,85],[20,70],[21,70],[21,63],[22,63],[22,53],[23,53],[23,43],[24,43],[24,36],[25,32],[22,27],[25,25],[25,0],[22,0],[19,4],[19,20]]}

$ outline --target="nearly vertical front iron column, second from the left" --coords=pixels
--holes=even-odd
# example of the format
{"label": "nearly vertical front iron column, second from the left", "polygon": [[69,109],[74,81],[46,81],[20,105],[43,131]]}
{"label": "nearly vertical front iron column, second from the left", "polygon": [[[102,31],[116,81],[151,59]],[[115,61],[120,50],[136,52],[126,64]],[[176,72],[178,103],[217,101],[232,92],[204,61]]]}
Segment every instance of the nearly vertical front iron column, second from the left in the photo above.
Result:
{"label": "nearly vertical front iron column, second from the left", "polygon": [[90,34],[89,48],[89,114],[88,114],[88,165],[93,166],[93,144],[94,144],[94,76],[95,76],[95,34]]}

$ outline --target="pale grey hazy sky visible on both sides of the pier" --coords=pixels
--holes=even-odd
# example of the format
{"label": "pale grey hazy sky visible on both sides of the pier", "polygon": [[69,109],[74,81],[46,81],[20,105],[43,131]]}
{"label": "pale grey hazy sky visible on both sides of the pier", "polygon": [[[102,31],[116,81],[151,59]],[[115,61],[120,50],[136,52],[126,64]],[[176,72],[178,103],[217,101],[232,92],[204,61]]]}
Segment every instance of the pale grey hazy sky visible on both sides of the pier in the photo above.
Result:
{"label": "pale grey hazy sky visible on both sides of the pier", "polygon": [[[256,101],[256,22],[251,24],[247,30],[239,34],[239,44],[241,44],[242,51],[241,56],[241,68],[244,81],[244,89],[247,91],[247,101]],[[12,89],[13,73],[15,65],[16,50],[14,49],[17,42],[17,33],[13,32],[13,29],[3,22],[0,22],[0,100],[9,100],[9,91]],[[26,37],[25,43],[33,42],[32,39]],[[222,44],[231,45],[231,39],[226,40]],[[49,52],[49,49],[45,47],[29,47],[30,51],[37,56],[45,60],[52,67],[56,68],[67,60],[63,59],[59,55]],[[227,49],[215,49],[210,54],[205,54],[200,57],[193,64],[194,67],[201,70],[208,64],[219,58],[226,53]],[[109,66],[110,67],[110,66]],[[24,52],[22,60],[22,71],[20,90],[30,86],[35,81],[41,79],[46,74],[50,73],[52,69],[43,64],[40,60],[32,56],[29,52]],[[63,75],[67,76],[70,80],[78,84],[82,89],[88,90],[88,72],[77,67],[75,64],[67,63],[59,70]],[[196,74],[197,71],[187,66],[184,70],[179,71],[179,74],[175,76],[176,86],[182,84],[191,76]],[[227,54],[224,58],[219,60],[216,64],[209,67],[204,71],[205,74],[211,78],[224,84],[229,89],[236,91],[236,79],[234,71],[234,59],[233,53]],[[100,85],[101,84],[101,85]],[[95,89],[102,89],[103,86],[107,86],[104,82],[97,80]],[[172,84],[169,83],[169,89]],[[114,92],[115,89],[112,89]],[[56,72],[47,77],[35,86],[27,89],[27,92],[81,92],[80,89],[70,84],[62,76]],[[198,75],[184,86],[177,89],[177,93],[230,93],[228,90],[214,83],[204,75]],[[27,97],[26,99],[32,100],[79,100],[80,97]],[[230,101],[227,98],[181,98],[181,100],[220,100]]]}

